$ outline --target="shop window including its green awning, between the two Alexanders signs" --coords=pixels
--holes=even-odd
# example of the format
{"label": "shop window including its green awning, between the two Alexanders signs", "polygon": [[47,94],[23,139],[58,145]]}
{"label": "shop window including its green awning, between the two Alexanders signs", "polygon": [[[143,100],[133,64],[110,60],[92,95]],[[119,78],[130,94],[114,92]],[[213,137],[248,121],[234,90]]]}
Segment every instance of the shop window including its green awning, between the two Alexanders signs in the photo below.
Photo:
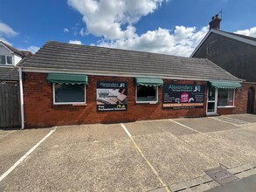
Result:
{"label": "shop window including its green awning, between the two Alexanders signs", "polygon": [[136,103],[157,103],[158,86],[163,86],[163,79],[135,78]]}

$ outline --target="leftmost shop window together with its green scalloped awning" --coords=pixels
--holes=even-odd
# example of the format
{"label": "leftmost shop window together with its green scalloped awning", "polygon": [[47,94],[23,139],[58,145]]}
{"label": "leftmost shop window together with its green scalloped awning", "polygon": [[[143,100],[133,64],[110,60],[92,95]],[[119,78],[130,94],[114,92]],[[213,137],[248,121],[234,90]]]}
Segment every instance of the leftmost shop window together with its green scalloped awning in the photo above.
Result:
{"label": "leftmost shop window together with its green scalloped awning", "polygon": [[86,104],[86,75],[49,73],[47,82],[53,85],[54,105]]}

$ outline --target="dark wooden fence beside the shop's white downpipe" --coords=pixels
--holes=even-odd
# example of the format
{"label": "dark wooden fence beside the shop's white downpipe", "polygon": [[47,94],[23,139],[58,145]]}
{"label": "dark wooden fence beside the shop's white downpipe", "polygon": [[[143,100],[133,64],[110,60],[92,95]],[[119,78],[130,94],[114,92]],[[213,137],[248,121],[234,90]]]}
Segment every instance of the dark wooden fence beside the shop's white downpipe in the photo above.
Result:
{"label": "dark wooden fence beside the shop's white downpipe", "polygon": [[0,128],[21,127],[19,86],[0,84]]}

